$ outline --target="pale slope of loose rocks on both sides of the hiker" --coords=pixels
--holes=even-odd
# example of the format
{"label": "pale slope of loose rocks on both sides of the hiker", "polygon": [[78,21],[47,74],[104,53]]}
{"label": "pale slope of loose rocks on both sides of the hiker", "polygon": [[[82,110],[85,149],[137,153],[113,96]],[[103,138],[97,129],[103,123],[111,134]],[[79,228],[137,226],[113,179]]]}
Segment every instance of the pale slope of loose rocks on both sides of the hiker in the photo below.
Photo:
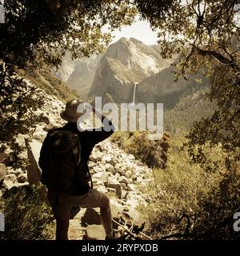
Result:
{"label": "pale slope of loose rocks on both sides of the hiker", "polygon": [[[22,158],[30,161],[26,170],[14,170],[9,166],[7,155],[2,156],[0,165],[0,180],[3,180],[2,190],[10,190],[13,186],[27,186],[37,184],[40,180],[41,170],[38,167],[38,157],[42,142],[47,130],[54,126],[61,126],[64,122],[59,114],[64,109],[64,103],[58,98],[46,94],[38,89],[36,97],[44,97],[46,104],[36,114],[41,115],[41,122],[34,127],[31,138],[20,134],[17,142],[27,146]],[[30,142],[26,142],[26,138]],[[108,194],[112,218],[122,226],[113,222],[118,234],[125,238],[124,230],[136,232],[144,228],[144,218],[139,213],[138,206],[146,205],[150,198],[142,194],[141,187],[150,182],[151,170],[132,154],[126,154],[110,140],[105,140],[94,147],[90,155],[90,173],[94,188]],[[1,191],[1,190],[0,190]],[[2,191],[0,192],[0,198]],[[81,209],[70,220],[69,237],[71,240],[89,239],[102,240],[105,232],[101,225],[99,209]]]}

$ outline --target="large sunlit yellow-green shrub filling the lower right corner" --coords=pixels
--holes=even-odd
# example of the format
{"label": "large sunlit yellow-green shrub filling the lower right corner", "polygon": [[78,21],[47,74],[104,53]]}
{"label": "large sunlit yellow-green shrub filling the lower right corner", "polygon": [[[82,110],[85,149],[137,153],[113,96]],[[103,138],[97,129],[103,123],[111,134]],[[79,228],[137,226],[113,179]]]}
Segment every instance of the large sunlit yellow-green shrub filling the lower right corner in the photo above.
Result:
{"label": "large sunlit yellow-green shrub filling the lower right corner", "polygon": [[182,142],[170,145],[165,170],[154,170],[142,211],[154,238],[236,239],[233,214],[240,206],[239,165],[222,146],[202,146],[206,161],[194,163]]}

